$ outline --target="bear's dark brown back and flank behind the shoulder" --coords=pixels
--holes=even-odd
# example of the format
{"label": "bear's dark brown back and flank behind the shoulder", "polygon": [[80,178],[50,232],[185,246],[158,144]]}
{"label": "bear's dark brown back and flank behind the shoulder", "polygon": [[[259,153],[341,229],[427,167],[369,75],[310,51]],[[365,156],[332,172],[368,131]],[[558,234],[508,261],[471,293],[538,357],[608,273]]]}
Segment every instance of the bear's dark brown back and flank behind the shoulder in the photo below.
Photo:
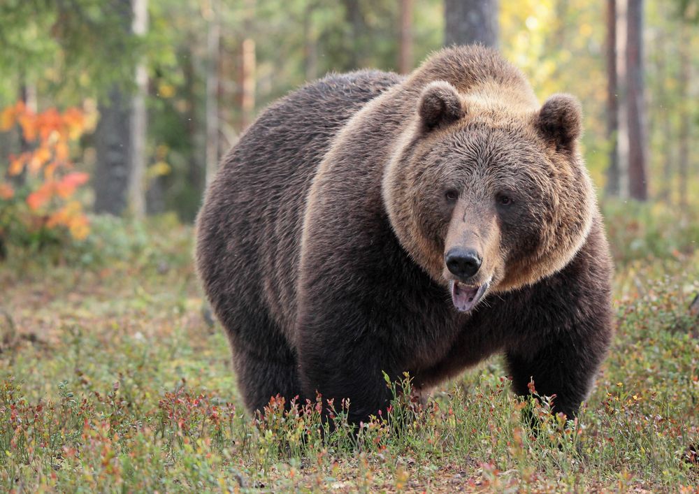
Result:
{"label": "bear's dark brown back and flank behind the shoulder", "polygon": [[290,330],[305,199],[317,166],[345,123],[401,80],[379,71],[329,75],[264,110],[224,157],[197,220],[196,260],[229,331],[251,317]]}

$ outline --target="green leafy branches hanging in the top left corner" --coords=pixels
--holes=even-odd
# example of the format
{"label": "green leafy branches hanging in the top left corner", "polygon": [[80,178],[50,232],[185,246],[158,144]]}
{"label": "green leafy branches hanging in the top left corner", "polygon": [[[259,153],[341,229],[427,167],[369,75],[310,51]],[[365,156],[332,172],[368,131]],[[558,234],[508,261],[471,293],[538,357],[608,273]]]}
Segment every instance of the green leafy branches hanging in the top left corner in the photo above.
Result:
{"label": "green leafy branches hanging in the top left corner", "polygon": [[130,1],[6,0],[0,4],[0,106],[13,102],[21,85],[62,104],[130,87],[140,42],[128,36]]}

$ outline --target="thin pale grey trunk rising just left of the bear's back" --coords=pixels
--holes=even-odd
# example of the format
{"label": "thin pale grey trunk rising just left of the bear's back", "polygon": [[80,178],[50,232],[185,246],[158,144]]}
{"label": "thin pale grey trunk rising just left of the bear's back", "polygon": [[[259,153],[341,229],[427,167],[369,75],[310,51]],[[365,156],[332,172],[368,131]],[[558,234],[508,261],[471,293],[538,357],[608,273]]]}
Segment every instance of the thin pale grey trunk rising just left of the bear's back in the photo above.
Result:
{"label": "thin pale grey trunk rising just left of the bear's back", "polygon": [[219,51],[221,45],[220,8],[212,0],[206,36],[206,183],[216,174],[219,161]]}

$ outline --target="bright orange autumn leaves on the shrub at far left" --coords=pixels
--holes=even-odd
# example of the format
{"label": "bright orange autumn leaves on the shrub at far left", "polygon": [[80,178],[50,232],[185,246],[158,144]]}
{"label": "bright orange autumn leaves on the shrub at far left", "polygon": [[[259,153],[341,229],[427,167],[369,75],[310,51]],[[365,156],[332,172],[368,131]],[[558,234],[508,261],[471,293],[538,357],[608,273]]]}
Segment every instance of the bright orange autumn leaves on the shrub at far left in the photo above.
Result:
{"label": "bright orange autumn leaves on the shrub at far left", "polygon": [[[87,173],[73,171],[70,161],[70,143],[80,138],[86,125],[85,113],[79,108],[64,112],[49,108],[37,113],[19,101],[0,112],[0,131],[19,126],[24,140],[34,145],[31,151],[10,155],[6,171],[10,177],[27,171],[31,190],[23,200],[32,216],[25,221],[28,228],[36,224],[44,228],[62,226],[77,239],[89,233],[82,205],[71,199],[78,187],[89,180]],[[13,187],[0,180],[0,200],[13,198],[19,199]]]}

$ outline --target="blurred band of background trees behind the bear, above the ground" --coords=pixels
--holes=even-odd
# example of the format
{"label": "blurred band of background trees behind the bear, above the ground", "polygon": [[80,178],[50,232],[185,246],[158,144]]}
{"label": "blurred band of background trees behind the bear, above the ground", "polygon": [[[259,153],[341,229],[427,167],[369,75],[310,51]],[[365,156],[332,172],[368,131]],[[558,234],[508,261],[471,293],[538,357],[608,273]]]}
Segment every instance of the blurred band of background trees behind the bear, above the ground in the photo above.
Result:
{"label": "blurred band of background trees behind the bear, above the ground", "polygon": [[[97,122],[71,145],[91,176],[80,201],[192,221],[219,158],[274,99],[331,71],[408,73],[478,42],[540,99],[582,100],[605,196],[686,205],[699,193],[698,18],[696,0],[5,0],[0,110],[80,108]],[[19,191],[28,172],[10,163],[36,145],[2,130],[0,182]]]}

